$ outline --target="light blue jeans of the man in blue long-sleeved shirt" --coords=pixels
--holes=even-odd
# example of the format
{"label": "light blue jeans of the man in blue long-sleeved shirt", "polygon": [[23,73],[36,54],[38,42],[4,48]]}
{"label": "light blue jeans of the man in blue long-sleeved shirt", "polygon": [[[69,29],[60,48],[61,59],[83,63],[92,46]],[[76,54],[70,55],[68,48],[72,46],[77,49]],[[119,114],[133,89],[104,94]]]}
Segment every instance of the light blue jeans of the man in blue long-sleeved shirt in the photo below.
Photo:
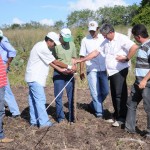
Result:
{"label": "light blue jeans of the man in blue long-sleeved shirt", "polygon": [[14,94],[10,88],[8,77],[7,77],[7,85],[5,86],[5,101],[13,116],[20,115],[19,107],[14,97]]}

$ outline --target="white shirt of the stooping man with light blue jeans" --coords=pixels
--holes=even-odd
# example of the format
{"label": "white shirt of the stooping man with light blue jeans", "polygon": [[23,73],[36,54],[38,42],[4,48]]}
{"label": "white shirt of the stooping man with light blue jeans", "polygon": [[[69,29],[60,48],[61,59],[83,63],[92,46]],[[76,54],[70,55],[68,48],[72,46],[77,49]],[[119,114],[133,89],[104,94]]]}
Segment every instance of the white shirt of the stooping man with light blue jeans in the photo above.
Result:
{"label": "white shirt of the stooping man with light blue jeans", "polygon": [[30,52],[25,81],[37,82],[42,86],[46,85],[46,78],[49,72],[49,64],[55,60],[45,41],[38,42]]}

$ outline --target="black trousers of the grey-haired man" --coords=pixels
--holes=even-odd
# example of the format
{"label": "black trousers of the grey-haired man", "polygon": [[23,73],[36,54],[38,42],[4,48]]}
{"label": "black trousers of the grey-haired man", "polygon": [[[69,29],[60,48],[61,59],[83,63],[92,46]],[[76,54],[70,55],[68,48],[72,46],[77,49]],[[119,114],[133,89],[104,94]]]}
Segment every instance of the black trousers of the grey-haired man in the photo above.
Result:
{"label": "black trousers of the grey-haired man", "polygon": [[128,68],[121,70],[120,72],[109,77],[112,103],[114,106],[114,118],[116,120],[126,118],[127,113],[127,84],[126,78],[128,74]]}

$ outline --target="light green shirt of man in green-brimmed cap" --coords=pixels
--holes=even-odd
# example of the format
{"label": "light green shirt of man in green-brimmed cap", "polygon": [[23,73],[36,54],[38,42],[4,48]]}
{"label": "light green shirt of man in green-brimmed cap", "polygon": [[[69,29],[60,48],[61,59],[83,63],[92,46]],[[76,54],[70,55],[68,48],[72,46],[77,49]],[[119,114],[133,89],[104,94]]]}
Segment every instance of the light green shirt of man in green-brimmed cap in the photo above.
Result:
{"label": "light green shirt of man in green-brimmed cap", "polygon": [[72,58],[76,58],[76,47],[75,44],[71,41],[66,43],[66,46],[57,45],[52,51],[54,57],[67,65],[72,65]]}

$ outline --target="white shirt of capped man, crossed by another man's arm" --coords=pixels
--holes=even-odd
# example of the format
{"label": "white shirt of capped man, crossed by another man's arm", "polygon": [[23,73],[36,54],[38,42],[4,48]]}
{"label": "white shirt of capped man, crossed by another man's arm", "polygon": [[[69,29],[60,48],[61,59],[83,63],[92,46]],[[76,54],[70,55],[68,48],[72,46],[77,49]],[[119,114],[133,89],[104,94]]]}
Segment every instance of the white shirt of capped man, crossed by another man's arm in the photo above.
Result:
{"label": "white shirt of capped man, crossed by another man's arm", "polygon": [[[84,37],[81,41],[80,56],[86,56],[92,51],[99,49],[99,46],[104,41],[101,34],[98,34],[97,38],[93,38],[91,35]],[[86,61],[86,71],[105,71],[105,55],[98,55],[97,57]]]}

